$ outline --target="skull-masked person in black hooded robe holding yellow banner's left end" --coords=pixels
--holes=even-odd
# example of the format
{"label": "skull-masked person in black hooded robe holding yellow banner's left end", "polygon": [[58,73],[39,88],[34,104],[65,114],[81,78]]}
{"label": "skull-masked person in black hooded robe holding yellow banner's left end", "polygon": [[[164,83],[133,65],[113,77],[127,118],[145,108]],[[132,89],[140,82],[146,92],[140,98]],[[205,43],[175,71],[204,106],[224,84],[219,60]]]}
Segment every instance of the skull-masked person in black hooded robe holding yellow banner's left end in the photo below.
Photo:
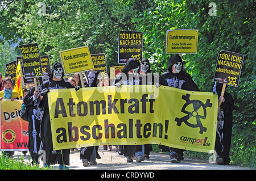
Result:
{"label": "skull-masked person in black hooded robe holding yellow banner's left end", "polygon": [[71,89],[74,86],[63,79],[64,71],[59,62],[55,62],[52,66],[52,73],[49,80],[43,82],[41,90],[36,95],[36,106],[43,107],[44,113],[41,121],[41,140],[42,150],[46,151],[45,167],[59,163],[59,169],[68,169],[70,149],[53,150],[52,132],[49,117],[48,96],[47,93],[51,89]]}

